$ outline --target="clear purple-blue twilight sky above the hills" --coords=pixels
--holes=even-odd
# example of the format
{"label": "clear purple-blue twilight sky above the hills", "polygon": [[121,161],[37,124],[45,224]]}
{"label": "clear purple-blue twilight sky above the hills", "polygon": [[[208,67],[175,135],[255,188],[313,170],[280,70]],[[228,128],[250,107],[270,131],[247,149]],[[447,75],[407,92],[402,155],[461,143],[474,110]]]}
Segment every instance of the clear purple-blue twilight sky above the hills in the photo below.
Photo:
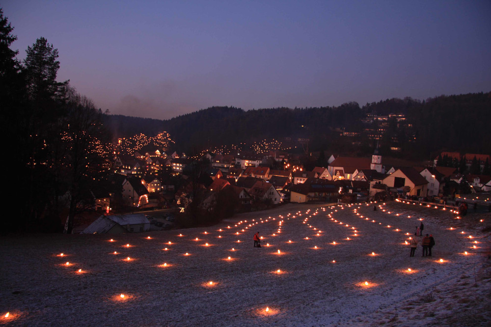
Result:
{"label": "clear purple-blue twilight sky above the hills", "polygon": [[491,91],[491,1],[4,0],[113,114],[340,105]]}

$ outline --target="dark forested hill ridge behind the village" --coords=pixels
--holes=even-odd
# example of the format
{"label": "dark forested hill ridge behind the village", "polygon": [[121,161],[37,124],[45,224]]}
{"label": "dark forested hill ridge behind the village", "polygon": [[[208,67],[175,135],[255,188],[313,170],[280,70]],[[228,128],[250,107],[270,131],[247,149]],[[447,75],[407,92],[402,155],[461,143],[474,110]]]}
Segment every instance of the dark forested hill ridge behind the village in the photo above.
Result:
{"label": "dark forested hill ridge behind the village", "polygon": [[[362,122],[368,114],[390,113],[402,113],[406,121]],[[165,130],[179,149],[191,152],[209,146],[283,137],[310,138],[312,150],[367,152],[374,143],[367,130],[382,128],[382,149],[389,151],[395,144],[401,148],[400,156],[427,158],[442,149],[491,153],[490,93],[440,96],[426,101],[387,99],[363,107],[356,102],[337,107],[249,111],[211,107],[165,121],[114,115],[107,119],[119,137],[138,133],[151,136]],[[358,132],[359,137],[342,137],[343,130]]]}

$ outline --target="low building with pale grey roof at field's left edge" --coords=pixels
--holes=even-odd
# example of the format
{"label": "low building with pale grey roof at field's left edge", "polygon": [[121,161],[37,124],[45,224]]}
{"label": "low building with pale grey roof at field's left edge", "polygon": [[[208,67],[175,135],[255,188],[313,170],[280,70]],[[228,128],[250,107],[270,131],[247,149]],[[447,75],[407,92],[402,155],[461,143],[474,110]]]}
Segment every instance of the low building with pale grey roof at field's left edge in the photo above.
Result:
{"label": "low building with pale grey roof at field's left edge", "polygon": [[150,230],[150,222],[144,214],[100,216],[81,234],[122,234]]}

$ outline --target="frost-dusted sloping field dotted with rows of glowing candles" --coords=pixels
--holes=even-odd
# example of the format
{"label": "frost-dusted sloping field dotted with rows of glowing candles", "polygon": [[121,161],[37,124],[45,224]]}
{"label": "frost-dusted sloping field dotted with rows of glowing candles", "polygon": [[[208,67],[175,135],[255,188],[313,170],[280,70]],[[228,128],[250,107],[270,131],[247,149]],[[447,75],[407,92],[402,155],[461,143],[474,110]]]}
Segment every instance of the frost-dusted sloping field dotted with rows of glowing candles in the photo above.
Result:
{"label": "frost-dusted sloping field dotted with rows of glowing candles", "polygon": [[[490,326],[491,216],[379,204],[289,204],[145,234],[3,237],[0,324]],[[404,244],[420,218],[433,257],[409,257]]]}

